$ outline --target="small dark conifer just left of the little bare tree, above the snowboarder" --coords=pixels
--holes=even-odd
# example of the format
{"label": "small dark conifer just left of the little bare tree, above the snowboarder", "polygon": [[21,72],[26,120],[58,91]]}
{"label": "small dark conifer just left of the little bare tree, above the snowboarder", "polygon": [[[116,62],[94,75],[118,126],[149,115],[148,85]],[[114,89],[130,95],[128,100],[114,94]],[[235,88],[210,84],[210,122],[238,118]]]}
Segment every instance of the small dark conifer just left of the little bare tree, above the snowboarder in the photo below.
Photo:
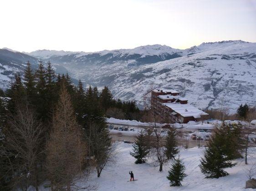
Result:
{"label": "small dark conifer just left of the little bare tree, above the snowboarder", "polygon": [[142,130],[136,137],[135,143],[133,144],[133,152],[130,155],[136,158],[135,164],[145,163],[150,148],[147,144],[147,134]]}

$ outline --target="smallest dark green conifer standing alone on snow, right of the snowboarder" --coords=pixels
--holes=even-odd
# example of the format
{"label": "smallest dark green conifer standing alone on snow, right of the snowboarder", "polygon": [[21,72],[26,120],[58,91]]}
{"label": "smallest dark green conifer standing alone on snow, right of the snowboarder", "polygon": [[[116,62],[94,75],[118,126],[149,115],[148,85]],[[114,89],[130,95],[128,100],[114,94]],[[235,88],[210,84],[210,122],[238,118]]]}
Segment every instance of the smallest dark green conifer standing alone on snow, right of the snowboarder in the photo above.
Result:
{"label": "smallest dark green conifer standing alone on snow, right of the snowboarder", "polygon": [[187,176],[184,171],[185,166],[183,162],[179,158],[174,160],[172,167],[168,171],[169,175],[167,176],[167,179],[170,181],[170,186],[182,186],[180,182]]}

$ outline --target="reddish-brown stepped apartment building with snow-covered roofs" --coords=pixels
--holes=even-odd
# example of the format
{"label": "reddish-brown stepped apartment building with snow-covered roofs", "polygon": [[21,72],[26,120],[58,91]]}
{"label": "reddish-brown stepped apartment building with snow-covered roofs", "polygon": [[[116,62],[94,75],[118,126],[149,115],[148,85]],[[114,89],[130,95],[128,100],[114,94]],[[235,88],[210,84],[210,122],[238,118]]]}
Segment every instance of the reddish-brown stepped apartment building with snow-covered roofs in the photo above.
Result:
{"label": "reddish-brown stepped apartment building with snow-covered roofs", "polygon": [[156,115],[170,122],[200,121],[208,114],[188,103],[173,89],[156,89],[151,92],[151,107]]}

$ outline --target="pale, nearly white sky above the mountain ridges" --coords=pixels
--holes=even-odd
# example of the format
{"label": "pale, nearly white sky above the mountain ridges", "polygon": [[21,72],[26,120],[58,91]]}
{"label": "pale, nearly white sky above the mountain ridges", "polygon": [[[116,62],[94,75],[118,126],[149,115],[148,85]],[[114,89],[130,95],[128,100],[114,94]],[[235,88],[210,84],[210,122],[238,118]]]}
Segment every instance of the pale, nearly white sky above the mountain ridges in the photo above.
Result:
{"label": "pale, nearly white sky above the mountain ridges", "polygon": [[256,0],[0,0],[0,48],[94,52],[256,42]]}

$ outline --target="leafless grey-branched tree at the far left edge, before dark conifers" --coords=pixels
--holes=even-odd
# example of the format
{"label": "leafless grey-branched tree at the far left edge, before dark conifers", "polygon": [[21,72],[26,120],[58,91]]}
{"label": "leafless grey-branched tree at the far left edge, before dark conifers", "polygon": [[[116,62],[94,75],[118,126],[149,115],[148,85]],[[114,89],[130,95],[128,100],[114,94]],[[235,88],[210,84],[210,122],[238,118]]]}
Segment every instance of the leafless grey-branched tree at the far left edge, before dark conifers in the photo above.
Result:
{"label": "leafless grey-branched tree at the far left edge, before dark conifers", "polygon": [[[28,106],[18,108],[16,115],[8,119],[6,144],[1,149],[5,156],[8,171],[12,171],[10,187],[27,190],[34,186],[38,191],[39,156],[44,152],[41,148],[44,128]],[[1,177],[2,178],[2,177]]]}

